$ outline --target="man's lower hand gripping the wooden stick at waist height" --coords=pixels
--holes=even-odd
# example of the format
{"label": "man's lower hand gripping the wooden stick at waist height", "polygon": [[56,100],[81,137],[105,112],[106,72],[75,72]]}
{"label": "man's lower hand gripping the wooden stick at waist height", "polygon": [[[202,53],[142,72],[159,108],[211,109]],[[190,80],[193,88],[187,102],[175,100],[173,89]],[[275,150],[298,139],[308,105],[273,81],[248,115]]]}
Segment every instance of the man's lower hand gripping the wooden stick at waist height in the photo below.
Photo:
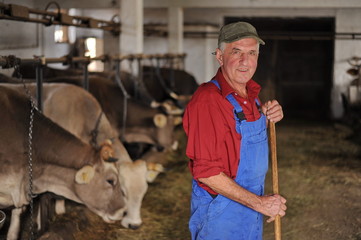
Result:
{"label": "man's lower hand gripping the wooden stick at waist height", "polygon": [[268,223],[275,220],[277,215],[283,217],[286,214],[286,199],[281,195],[266,195],[261,197],[261,206],[259,212],[263,215],[269,216]]}

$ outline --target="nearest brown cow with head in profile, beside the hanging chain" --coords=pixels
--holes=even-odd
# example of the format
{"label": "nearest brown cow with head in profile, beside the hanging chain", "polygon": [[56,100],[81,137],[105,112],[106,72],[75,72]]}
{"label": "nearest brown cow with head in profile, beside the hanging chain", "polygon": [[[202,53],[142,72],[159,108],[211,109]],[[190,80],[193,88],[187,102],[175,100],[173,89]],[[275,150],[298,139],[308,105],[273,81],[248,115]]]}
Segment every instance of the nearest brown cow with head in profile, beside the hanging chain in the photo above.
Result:
{"label": "nearest brown cow with head in profile, beside the hanging chain", "polygon": [[[7,235],[13,240],[18,238],[22,208],[30,201],[30,102],[19,92],[0,86],[0,105],[0,208],[15,207]],[[110,146],[97,150],[38,111],[33,123],[33,194],[53,192],[85,204],[106,222],[122,219],[125,200],[119,173],[114,163],[104,159]]]}

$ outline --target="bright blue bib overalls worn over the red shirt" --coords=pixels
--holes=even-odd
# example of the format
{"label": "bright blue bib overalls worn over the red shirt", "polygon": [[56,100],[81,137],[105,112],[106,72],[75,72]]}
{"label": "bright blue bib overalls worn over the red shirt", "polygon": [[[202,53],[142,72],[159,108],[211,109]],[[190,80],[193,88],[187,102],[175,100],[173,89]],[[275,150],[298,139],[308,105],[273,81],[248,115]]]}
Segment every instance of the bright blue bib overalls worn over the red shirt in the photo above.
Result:
{"label": "bright blue bib overalls worn over the red shirt", "polygon": [[[220,88],[216,80],[211,82]],[[236,130],[242,136],[241,161],[235,181],[248,191],[261,196],[264,194],[264,181],[268,170],[266,117],[261,113],[258,120],[247,122],[245,118],[241,118],[242,107],[232,94],[227,96],[227,100],[234,107]],[[262,239],[262,214],[220,194],[213,198],[194,179],[192,185],[189,220],[192,240]]]}

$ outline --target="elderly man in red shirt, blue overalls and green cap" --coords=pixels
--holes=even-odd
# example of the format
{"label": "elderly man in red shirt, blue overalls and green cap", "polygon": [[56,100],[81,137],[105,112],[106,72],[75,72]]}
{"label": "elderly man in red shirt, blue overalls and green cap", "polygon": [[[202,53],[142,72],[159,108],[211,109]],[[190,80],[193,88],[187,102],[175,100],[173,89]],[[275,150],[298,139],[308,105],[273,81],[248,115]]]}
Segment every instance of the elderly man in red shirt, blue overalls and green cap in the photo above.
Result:
{"label": "elderly man in red shirt, blue overalls and green cap", "polygon": [[286,199],[264,196],[267,119],[278,122],[283,112],[276,100],[261,105],[261,88],[251,79],[259,44],[265,43],[251,24],[223,26],[215,53],[220,68],[185,111],[192,239],[262,239],[263,215],[268,222],[285,215]]}

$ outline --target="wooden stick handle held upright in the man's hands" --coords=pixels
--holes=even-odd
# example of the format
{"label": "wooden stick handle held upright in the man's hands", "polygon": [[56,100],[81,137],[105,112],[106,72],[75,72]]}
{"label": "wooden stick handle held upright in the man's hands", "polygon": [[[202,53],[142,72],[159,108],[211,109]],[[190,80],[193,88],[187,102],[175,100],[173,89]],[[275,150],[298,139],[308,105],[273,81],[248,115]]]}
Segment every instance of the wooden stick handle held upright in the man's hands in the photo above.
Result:
{"label": "wooden stick handle held upright in the man's hands", "polygon": [[[270,121],[268,127],[269,127],[269,131],[270,131],[270,150],[271,150],[271,160],[272,160],[273,193],[279,194],[275,123]],[[280,215],[276,216],[274,224],[275,224],[275,240],[281,240],[281,217],[280,217]]]}

